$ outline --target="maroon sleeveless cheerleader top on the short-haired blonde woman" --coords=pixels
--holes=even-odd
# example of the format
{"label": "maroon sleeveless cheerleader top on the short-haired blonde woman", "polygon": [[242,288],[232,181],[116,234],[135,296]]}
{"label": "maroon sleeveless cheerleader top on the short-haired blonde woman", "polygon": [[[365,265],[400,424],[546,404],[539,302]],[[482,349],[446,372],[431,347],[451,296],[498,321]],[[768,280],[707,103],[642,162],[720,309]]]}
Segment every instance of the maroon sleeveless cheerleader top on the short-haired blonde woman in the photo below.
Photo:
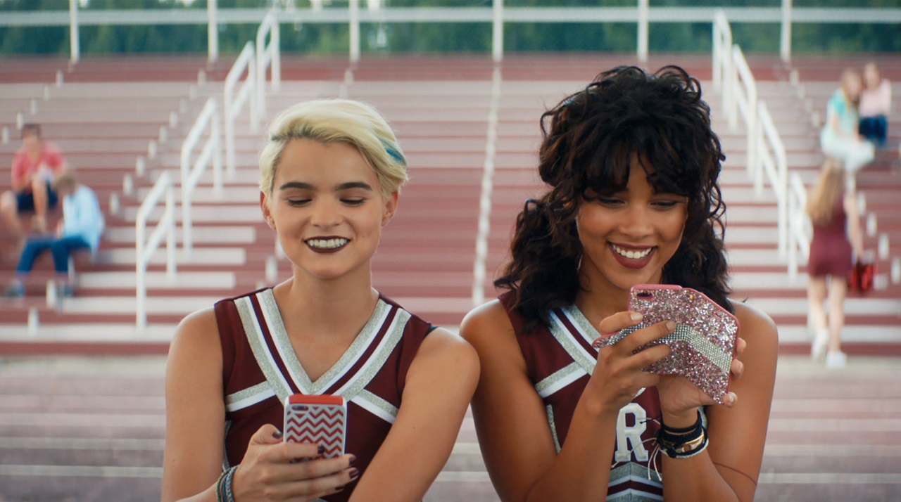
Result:
{"label": "maroon sleeveless cheerleader top on the short-haired blonde woman", "polygon": [[[360,475],[384,442],[404,393],[406,372],[432,325],[379,295],[366,326],[337,363],[311,381],[287,337],[272,289],[214,307],[223,348],[224,467],[237,465],[260,426],[280,430],[290,394],[335,394],[348,403],[346,452]],[[324,500],[347,500],[351,483]]]}

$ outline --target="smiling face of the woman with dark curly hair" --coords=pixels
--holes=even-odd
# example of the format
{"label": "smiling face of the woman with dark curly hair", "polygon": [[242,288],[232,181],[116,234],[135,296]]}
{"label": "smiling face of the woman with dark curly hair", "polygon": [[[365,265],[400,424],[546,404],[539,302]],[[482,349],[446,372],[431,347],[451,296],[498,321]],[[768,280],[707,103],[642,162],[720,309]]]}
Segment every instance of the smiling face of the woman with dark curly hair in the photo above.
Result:
{"label": "smiling face of the woman with dark curly hair", "polygon": [[587,192],[576,225],[582,243],[579,276],[588,291],[628,291],[659,283],[676,253],[687,218],[687,197],[655,193],[633,156],[629,183],[619,193]]}

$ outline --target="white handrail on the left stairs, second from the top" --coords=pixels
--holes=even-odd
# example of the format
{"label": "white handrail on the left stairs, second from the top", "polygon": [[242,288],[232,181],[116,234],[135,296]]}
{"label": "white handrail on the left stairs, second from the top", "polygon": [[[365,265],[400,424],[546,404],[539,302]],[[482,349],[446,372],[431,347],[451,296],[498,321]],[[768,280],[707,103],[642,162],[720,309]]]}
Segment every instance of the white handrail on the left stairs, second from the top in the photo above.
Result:
{"label": "white handrail on the left stairs, second from the top", "polygon": [[[241,87],[235,94],[235,87],[241,82],[241,76],[247,73]],[[241,107],[248,103],[250,109],[250,131],[256,132],[259,127],[259,114],[257,106],[259,99],[255,94],[257,86],[257,58],[253,49],[253,42],[244,44],[244,49],[225,77],[225,89],[223,92],[223,118],[225,121],[225,166],[229,177],[234,176],[236,159],[234,152],[234,126],[241,116]]]}

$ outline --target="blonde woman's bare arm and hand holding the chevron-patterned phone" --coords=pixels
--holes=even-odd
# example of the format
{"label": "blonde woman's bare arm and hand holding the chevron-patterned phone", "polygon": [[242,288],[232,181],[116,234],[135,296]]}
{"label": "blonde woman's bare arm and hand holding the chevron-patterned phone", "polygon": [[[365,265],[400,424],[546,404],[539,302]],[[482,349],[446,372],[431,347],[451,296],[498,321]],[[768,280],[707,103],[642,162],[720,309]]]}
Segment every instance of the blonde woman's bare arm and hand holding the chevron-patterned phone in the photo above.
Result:
{"label": "blonde woman's bare arm and hand holding the chevron-patterned phone", "polygon": [[[212,309],[178,325],[166,370],[166,451],[162,500],[216,500],[223,471],[225,405],[222,347]],[[233,477],[235,498],[312,500],[350,482],[350,457],[316,456],[314,444],[283,443],[276,426],[259,428]]]}

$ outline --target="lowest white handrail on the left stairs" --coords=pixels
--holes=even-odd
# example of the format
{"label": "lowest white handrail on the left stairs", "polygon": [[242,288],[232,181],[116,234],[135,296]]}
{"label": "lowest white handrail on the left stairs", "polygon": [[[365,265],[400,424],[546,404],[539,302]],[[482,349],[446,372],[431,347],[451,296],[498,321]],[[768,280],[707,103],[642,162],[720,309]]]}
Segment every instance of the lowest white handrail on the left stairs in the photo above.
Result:
{"label": "lowest white handrail on the left stairs", "polygon": [[[157,226],[147,236],[147,220],[150,213],[157,209],[158,203],[165,198],[165,209],[159,217]],[[172,188],[172,177],[163,171],[150,193],[144,197],[134,223],[135,251],[135,324],[139,332],[147,328],[147,266],[163,238],[166,238],[166,276],[175,280],[175,195]]]}

